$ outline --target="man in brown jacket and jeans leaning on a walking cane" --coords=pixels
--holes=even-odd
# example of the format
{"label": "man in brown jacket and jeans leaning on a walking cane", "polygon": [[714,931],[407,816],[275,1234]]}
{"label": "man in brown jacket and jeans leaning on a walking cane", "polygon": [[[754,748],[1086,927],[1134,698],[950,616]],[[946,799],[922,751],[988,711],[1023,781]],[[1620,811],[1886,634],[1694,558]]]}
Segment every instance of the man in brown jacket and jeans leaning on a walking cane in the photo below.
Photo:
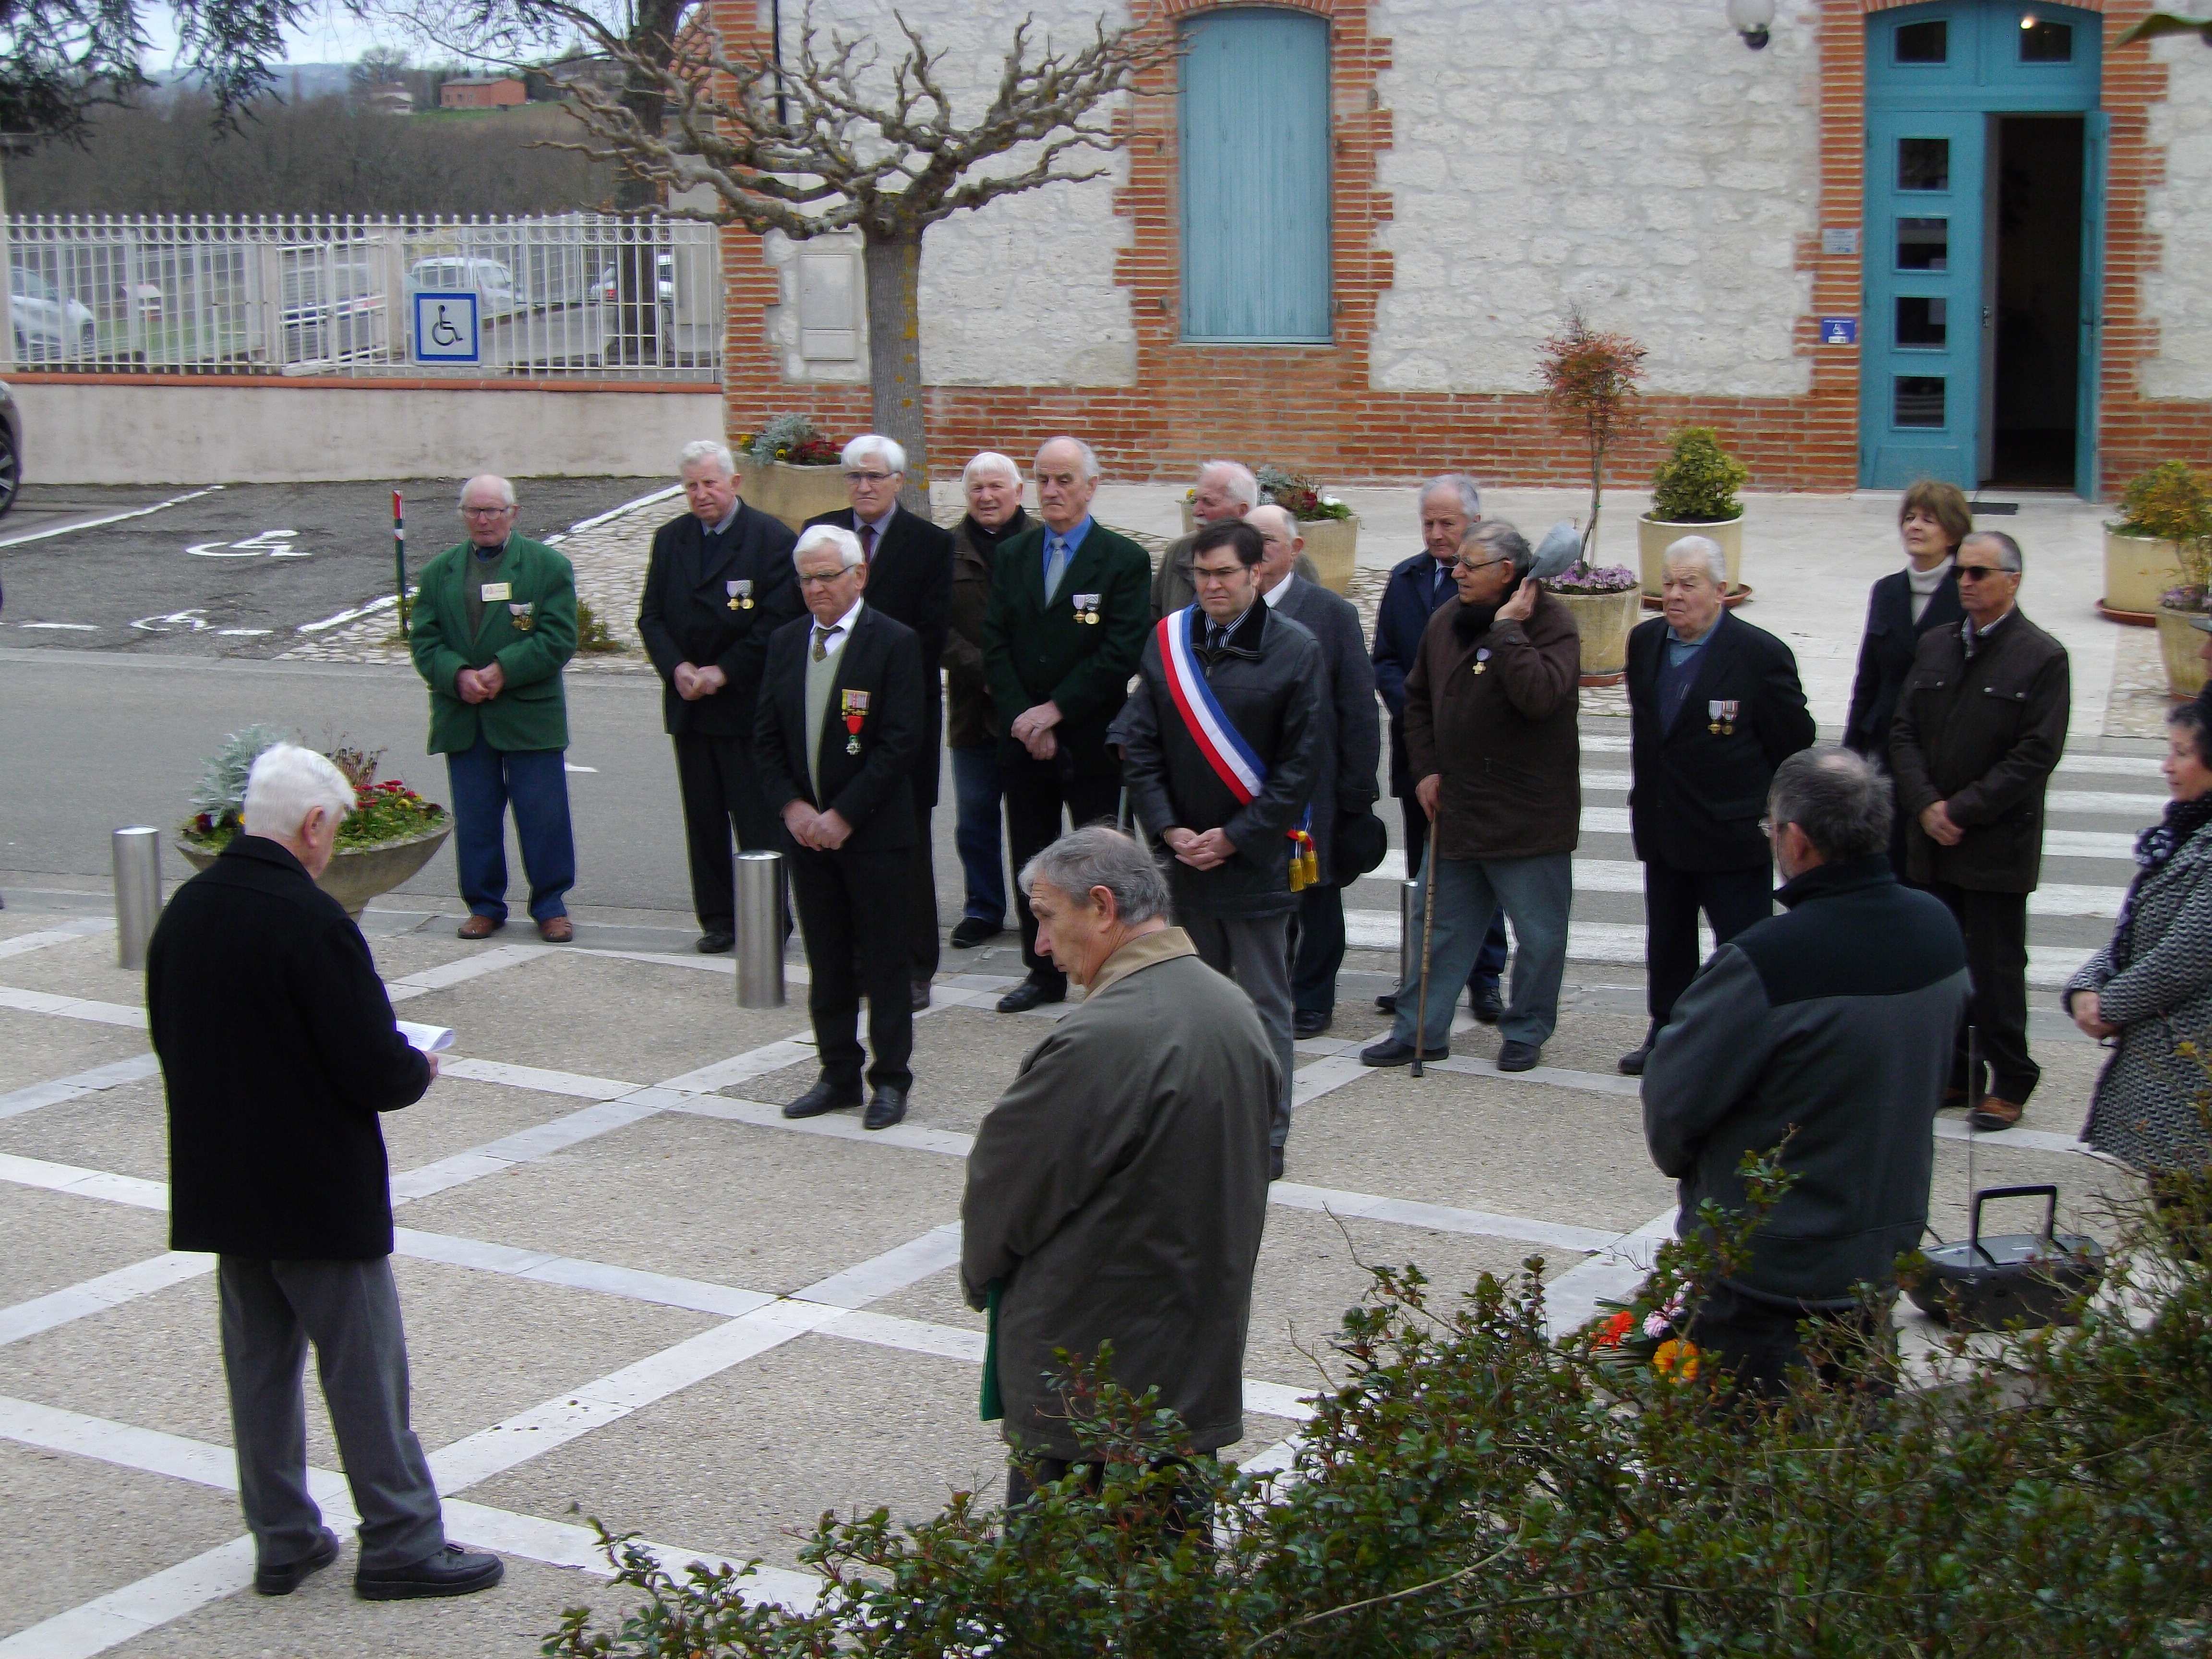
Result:
{"label": "man in brown jacket and jeans leaning on a walking cane", "polygon": [[1420,971],[1398,989],[1389,1037],[1360,1053],[1369,1066],[1451,1053],[1451,1006],[1500,905],[1515,951],[1498,1068],[1533,1071],[1559,1022],[1582,832],[1582,639],[1535,562],[1511,524],[1475,524],[1453,566],[1458,604],[1429,619],[1405,681],[1405,748],[1429,814]]}

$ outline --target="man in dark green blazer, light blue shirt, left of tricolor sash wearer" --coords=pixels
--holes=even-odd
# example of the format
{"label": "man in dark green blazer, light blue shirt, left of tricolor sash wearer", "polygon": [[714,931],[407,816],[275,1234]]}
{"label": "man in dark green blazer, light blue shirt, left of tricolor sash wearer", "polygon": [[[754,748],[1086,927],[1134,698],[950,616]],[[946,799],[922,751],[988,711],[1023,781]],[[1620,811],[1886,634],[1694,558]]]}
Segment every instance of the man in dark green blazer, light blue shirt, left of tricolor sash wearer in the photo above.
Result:
{"label": "man in dark green blazer, light blue shirt, left of tricolor sash wearer", "polygon": [[[1113,818],[1121,761],[1106,728],[1128,701],[1128,677],[1152,626],[1152,560],[1126,535],[1091,518],[1099,460],[1082,438],[1051,438],[1037,451],[1037,518],[1000,542],[991,606],[982,619],[982,672],[998,706],[998,768],[1006,790],[1006,849],[1013,872],[1060,838],[1060,814],[1079,830]],[[1000,1013],[1060,1002],[1068,978],[1037,956],[1037,918],[1015,880],[1022,918],[1018,987]]]}

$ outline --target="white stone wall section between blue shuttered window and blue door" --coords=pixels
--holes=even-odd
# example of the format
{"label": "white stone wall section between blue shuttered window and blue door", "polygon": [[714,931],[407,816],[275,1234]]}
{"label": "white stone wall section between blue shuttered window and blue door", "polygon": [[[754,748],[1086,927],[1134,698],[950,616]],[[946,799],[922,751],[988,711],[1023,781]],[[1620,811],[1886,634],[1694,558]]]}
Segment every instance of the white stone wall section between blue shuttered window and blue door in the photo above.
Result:
{"label": "white stone wall section between blue shuttered window and blue door", "polygon": [[1573,301],[1650,347],[1652,392],[1805,394],[1816,24],[1785,0],[1750,51],[1719,0],[1385,0],[1374,385],[1528,392]]}

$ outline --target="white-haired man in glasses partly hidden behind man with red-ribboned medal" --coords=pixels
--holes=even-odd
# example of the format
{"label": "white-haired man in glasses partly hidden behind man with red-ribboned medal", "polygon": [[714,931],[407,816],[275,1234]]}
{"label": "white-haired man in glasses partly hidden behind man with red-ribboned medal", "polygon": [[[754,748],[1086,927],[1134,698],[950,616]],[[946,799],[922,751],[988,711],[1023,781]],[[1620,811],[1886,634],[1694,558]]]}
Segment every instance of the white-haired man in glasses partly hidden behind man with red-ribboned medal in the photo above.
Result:
{"label": "white-haired man in glasses partly hidden behind man with red-ribboned medal", "polygon": [[807,529],[827,524],[858,538],[860,562],[867,566],[867,608],[914,628],[927,664],[927,719],[914,750],[916,841],[907,891],[894,911],[907,916],[914,1006],[927,1009],[929,980],[938,971],[938,874],[929,814],[938,805],[938,737],[945,732],[945,675],[938,664],[945,661],[945,633],[953,611],[953,535],[898,504],[898,491],[907,484],[907,451],[896,442],[865,431],[845,445],[843,460],[852,507],[818,513],[807,520]]}

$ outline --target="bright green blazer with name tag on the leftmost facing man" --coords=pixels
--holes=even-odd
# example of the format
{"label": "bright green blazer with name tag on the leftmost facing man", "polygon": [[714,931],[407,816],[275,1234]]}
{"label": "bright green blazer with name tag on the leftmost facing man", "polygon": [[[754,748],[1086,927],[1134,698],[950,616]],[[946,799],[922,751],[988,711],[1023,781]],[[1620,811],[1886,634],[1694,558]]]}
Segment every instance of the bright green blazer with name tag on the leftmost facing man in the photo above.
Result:
{"label": "bright green blazer with name tag on the leftmost facing man", "polygon": [[[568,699],[560,670],[575,655],[575,568],[544,542],[513,535],[507,542],[509,597],[484,604],[484,622],[469,637],[469,591],[478,560],[462,542],[422,566],[407,619],[407,648],[429,684],[429,752],[458,754],[478,734],[495,750],[568,748]],[[529,628],[515,626],[509,604],[526,604]],[[500,664],[507,686],[489,703],[465,703],[453,690],[462,668]]]}

